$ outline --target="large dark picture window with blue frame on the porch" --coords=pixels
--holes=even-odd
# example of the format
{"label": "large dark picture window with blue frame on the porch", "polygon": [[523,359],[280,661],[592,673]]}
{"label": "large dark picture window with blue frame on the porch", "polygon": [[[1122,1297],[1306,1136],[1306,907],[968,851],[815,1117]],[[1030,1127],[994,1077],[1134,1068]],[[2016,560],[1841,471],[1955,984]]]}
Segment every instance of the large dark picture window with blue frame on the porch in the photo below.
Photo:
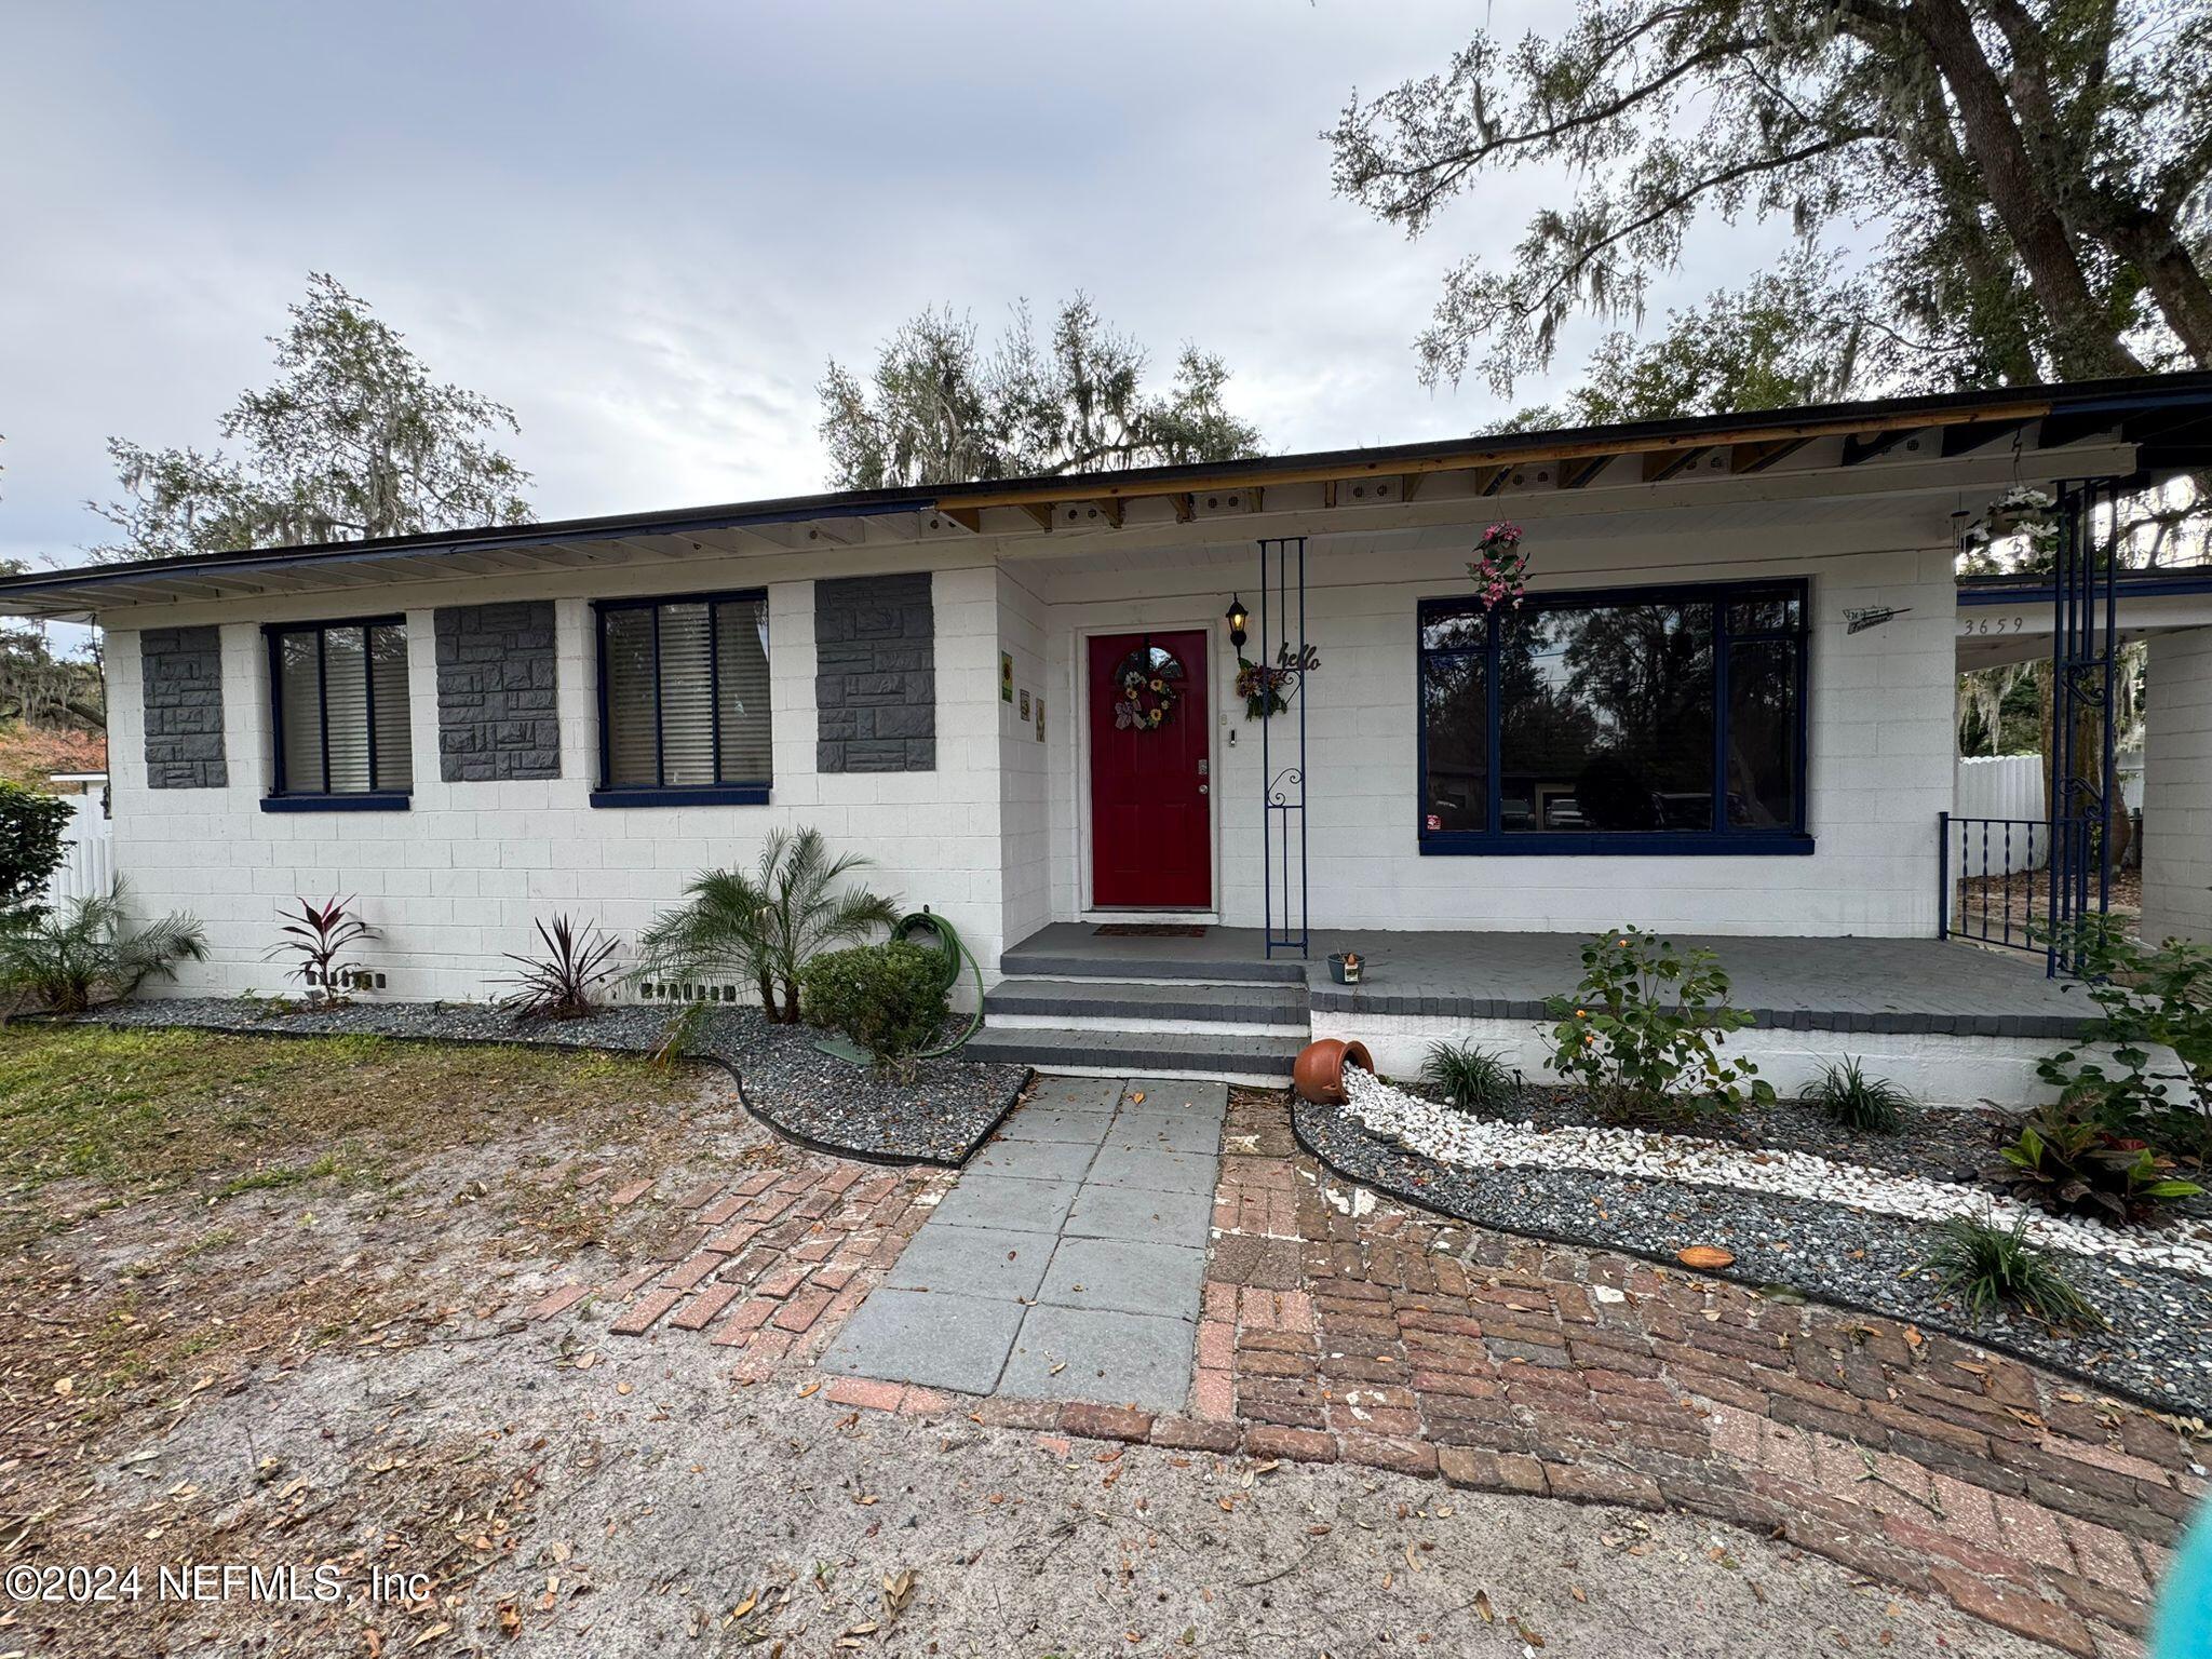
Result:
{"label": "large dark picture window with blue frame on the porch", "polygon": [[1420,849],[1809,852],[1805,584],[1420,604]]}

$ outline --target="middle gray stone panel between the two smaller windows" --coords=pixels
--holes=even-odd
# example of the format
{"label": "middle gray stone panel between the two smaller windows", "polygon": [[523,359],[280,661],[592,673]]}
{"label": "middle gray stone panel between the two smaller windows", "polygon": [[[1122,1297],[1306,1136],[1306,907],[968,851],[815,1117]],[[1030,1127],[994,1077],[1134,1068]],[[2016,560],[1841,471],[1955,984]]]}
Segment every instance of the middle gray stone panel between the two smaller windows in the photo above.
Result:
{"label": "middle gray stone panel between the two smaller windows", "polygon": [[438,635],[438,776],[447,783],[560,776],[553,602],[447,606]]}

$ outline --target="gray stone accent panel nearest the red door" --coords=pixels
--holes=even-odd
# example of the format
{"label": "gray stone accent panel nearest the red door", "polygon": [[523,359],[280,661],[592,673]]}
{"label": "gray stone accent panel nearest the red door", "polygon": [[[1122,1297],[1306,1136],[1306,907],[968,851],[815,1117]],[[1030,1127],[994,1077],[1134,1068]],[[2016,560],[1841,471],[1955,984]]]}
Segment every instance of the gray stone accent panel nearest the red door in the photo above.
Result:
{"label": "gray stone accent panel nearest the red door", "polygon": [[814,584],[816,772],[938,770],[929,573]]}

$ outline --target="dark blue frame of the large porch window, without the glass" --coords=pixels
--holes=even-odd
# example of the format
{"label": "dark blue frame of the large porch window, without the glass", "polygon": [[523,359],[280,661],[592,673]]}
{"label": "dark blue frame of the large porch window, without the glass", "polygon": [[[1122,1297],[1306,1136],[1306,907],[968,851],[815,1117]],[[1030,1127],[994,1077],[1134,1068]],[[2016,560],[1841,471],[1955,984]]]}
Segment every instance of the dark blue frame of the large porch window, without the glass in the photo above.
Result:
{"label": "dark blue frame of the large porch window, without the glass", "polygon": [[[1787,595],[1796,599],[1798,624],[1794,628],[1743,628],[1730,630],[1728,606],[1759,595]],[[1416,721],[1416,790],[1413,790],[1413,834],[1422,858],[1743,858],[1743,856],[1805,856],[1814,849],[1814,838],[1805,830],[1805,781],[1809,726],[1807,664],[1812,659],[1812,584],[1805,577],[1781,577],[1770,582],[1674,582],[1639,588],[1564,588],[1557,593],[1531,593],[1528,611],[1595,611],[1615,604],[1710,604],[1714,650],[1712,650],[1712,827],[1710,830],[1628,830],[1628,832],[1531,832],[1500,827],[1504,810],[1504,783],[1498,770],[1502,710],[1498,706],[1498,630],[1504,613],[1484,617],[1480,644],[1455,650],[1431,650],[1425,644],[1431,622],[1444,617],[1482,615],[1480,599],[1436,597],[1422,599],[1413,613],[1413,721]],[[1728,659],[1730,646],[1750,641],[1785,641],[1796,646],[1796,823],[1776,830],[1728,825]],[[1429,721],[1425,717],[1425,686],[1429,657],[1484,657],[1484,706],[1489,719],[1489,825],[1484,830],[1429,830]]]}

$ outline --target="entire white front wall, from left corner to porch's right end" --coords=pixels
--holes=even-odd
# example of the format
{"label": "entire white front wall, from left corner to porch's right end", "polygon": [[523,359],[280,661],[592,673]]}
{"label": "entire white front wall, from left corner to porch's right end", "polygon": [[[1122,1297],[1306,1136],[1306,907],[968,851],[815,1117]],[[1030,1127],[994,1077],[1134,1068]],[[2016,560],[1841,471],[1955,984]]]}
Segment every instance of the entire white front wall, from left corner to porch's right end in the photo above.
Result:
{"label": "entire white front wall, from left corner to porch's right end", "polygon": [[[1491,511],[1484,507],[1484,511]],[[1635,920],[1708,933],[1929,936],[1936,814],[1951,803],[1951,549],[1880,504],[1792,504],[1761,526],[1663,513],[1531,522],[1540,588],[1809,577],[1812,856],[1422,858],[1416,836],[1416,606],[1469,591],[1467,522],[1314,538],[1307,637],[1312,925],[1597,931]],[[938,768],[816,774],[812,582],[933,571]],[[748,865],[774,827],[821,827],[872,856],[869,885],[947,914],[995,978],[1000,949],[1088,909],[1084,639],[1206,628],[1212,672],[1214,916],[1261,914],[1259,723],[1234,697],[1230,593],[1256,604],[1241,526],[1164,551],[1130,524],[1024,542],[962,540],[639,560],[542,577],[449,577],[111,613],[117,867],[137,909],[188,909],[215,956],[177,991],[283,989],[265,951],[276,907],[358,894],[383,938],[363,953],[394,998],[482,998],[504,951],[535,947],[553,911],[630,938],[714,865]],[[593,810],[597,695],[591,599],[763,586],[770,602],[774,796],[761,807]],[[438,776],[431,611],[549,597],[560,657],[562,776]],[[1902,615],[1849,635],[1845,611]],[[414,686],[409,812],[263,812],[270,688],[263,622],[403,611]],[[137,630],[223,628],[226,790],[146,787]],[[2212,635],[2205,635],[2212,637]],[[1256,639],[1254,646],[1256,648]],[[1000,653],[1015,703],[998,695]],[[1020,692],[1046,703],[1046,741]],[[2154,717],[2157,728],[2157,717]],[[1287,721],[1279,734],[1287,734]],[[2170,728],[2170,739],[2179,728]],[[2203,750],[2199,750],[2203,757]],[[1276,765],[1290,763],[1279,757]],[[2208,761],[2199,759],[2199,765]],[[2170,774],[2172,776],[2179,774]],[[2205,883],[2199,880],[2199,887]],[[159,989],[159,987],[157,987]],[[743,995],[743,987],[739,987]]]}

